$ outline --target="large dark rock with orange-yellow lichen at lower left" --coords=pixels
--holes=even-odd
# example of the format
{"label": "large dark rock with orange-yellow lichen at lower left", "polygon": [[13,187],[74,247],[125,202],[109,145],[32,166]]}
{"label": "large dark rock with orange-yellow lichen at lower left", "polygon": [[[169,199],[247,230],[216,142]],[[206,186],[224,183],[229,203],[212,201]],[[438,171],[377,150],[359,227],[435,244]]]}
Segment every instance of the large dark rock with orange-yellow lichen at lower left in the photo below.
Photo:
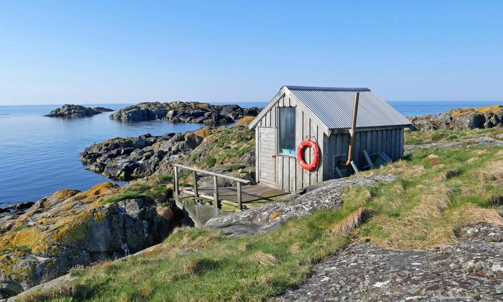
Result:
{"label": "large dark rock with orange-yellow lichen at lower left", "polygon": [[84,192],[61,190],[14,219],[0,221],[0,297],[61,276],[75,265],[161,242],[176,224],[174,209],[143,198],[102,203],[121,190],[113,183]]}

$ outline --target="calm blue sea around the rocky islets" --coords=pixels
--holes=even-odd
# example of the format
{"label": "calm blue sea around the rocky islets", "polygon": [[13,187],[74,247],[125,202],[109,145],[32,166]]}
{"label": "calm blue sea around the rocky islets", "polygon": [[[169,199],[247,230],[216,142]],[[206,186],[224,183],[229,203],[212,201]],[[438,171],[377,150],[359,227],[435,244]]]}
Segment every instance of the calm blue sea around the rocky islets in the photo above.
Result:
{"label": "calm blue sea around the rocky islets", "polygon": [[[435,114],[451,108],[479,107],[500,102],[389,102],[406,116]],[[222,103],[221,103],[222,104]],[[93,104],[118,110],[130,104]],[[263,107],[265,102],[240,103]],[[160,135],[196,130],[201,124],[166,121],[118,122],[111,112],[93,117],[43,117],[57,105],[0,106],[0,204],[36,201],[61,189],[87,190],[108,181],[87,171],[79,153],[94,142],[112,137]]]}

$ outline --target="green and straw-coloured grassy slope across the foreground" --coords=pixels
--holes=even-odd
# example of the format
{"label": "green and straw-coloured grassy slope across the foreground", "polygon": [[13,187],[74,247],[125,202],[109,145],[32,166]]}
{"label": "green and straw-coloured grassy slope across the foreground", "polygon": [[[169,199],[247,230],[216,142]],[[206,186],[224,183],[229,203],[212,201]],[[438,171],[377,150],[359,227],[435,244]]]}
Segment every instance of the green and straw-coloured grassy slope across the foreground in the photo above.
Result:
{"label": "green and straw-coloured grassy slope across the foreground", "polygon": [[[415,134],[414,134],[415,135]],[[319,211],[267,235],[228,238],[179,229],[163,245],[127,261],[82,273],[75,285],[33,298],[48,300],[262,300],[301,282],[314,264],[351,242],[392,249],[434,249],[457,241],[460,226],[503,223],[503,150],[419,150],[365,173],[394,173],[391,183],[347,189],[341,210]],[[372,217],[332,232],[361,208]],[[344,220],[345,221],[345,220]]]}

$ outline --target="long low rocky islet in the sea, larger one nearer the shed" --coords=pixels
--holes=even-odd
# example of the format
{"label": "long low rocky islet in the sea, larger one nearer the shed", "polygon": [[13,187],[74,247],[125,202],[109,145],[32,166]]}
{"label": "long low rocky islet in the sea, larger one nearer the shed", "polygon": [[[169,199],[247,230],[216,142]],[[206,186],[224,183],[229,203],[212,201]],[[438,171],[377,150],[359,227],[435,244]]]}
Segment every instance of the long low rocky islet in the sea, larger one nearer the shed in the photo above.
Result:
{"label": "long low rocky islet in the sea, larger one nearer the shed", "polygon": [[244,116],[257,116],[260,108],[241,108],[237,105],[211,105],[199,102],[145,102],[127,106],[110,115],[121,121],[163,119],[186,123],[232,123]]}

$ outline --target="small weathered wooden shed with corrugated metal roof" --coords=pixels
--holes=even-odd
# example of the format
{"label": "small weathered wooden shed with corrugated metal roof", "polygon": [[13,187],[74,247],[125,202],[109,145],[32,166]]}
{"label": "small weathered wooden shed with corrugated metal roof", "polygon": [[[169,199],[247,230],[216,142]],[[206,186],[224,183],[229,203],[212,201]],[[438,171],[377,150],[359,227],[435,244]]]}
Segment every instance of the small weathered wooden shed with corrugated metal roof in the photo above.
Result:
{"label": "small weathered wooden shed with corrugated metal roof", "polygon": [[[346,161],[356,92],[356,166],[368,165],[372,154],[402,158],[403,129],[410,122],[370,89],[283,86],[249,125],[255,128],[256,182],[293,192],[353,174]],[[320,163],[312,172],[301,169],[295,156],[305,138],[315,140],[320,150]],[[304,157],[312,161],[310,148]]]}

